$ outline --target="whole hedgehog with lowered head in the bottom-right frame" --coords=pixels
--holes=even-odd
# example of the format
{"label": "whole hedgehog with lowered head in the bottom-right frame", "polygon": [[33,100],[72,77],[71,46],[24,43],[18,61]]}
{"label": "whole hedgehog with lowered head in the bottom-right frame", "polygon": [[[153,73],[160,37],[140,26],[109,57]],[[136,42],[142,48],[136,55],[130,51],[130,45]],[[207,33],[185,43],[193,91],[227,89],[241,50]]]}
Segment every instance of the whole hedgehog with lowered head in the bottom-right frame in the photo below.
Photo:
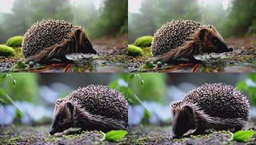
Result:
{"label": "whole hedgehog with lowered head in the bottom-right frame", "polygon": [[250,105],[233,86],[223,83],[204,84],[171,105],[173,138],[190,129],[199,135],[208,129],[241,130],[248,122]]}

